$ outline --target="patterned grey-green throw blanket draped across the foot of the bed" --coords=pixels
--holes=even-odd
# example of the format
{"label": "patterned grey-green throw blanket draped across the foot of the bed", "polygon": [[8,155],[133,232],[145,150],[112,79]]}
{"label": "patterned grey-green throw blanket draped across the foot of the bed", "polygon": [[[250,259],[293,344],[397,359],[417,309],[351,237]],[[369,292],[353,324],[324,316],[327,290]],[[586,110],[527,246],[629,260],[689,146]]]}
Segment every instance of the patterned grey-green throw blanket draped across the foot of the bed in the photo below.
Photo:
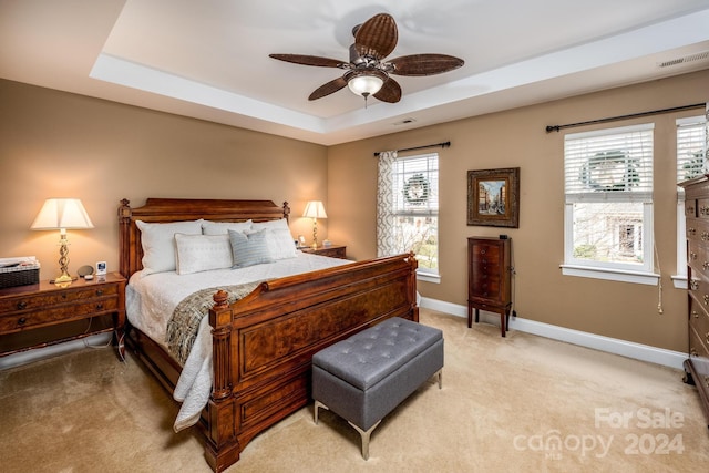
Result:
{"label": "patterned grey-green throw blanket draped across the foot of the bed", "polygon": [[184,366],[185,361],[187,361],[187,356],[189,356],[192,346],[197,337],[199,322],[214,306],[214,299],[212,298],[214,294],[219,289],[225,290],[229,295],[227,304],[233,304],[247,296],[259,284],[260,281],[201,289],[185,297],[175,307],[175,311],[167,322],[166,341],[169,352],[179,364]]}

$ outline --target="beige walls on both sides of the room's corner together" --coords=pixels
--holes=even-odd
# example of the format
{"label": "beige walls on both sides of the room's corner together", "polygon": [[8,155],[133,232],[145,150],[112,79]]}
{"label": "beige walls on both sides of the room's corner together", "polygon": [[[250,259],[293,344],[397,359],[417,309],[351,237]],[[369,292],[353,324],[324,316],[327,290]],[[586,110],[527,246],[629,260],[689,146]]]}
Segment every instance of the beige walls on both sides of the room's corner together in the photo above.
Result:
{"label": "beige walls on both sides of the room's corner together", "polygon": [[[665,313],[658,288],[564,277],[563,136],[549,124],[666,109],[709,99],[709,71],[461,120],[326,148],[274,135],[0,81],[0,257],[35,255],[42,277],[58,270],[58,235],[29,229],[48,197],[79,197],[96,228],[70,232],[70,270],[105,259],[117,265],[121,198],[266,198],[291,203],[294,234],[306,200],[326,202],[319,238],[348,245],[357,259],[376,254],[376,151],[450,140],[441,156],[440,285],[425,297],[465,305],[465,238],[513,238],[520,317],[684,351],[686,296],[675,289],[674,123],[698,112],[657,115],[655,228]],[[586,128],[575,128],[574,132]],[[466,172],[521,167],[520,228],[466,225]]]}

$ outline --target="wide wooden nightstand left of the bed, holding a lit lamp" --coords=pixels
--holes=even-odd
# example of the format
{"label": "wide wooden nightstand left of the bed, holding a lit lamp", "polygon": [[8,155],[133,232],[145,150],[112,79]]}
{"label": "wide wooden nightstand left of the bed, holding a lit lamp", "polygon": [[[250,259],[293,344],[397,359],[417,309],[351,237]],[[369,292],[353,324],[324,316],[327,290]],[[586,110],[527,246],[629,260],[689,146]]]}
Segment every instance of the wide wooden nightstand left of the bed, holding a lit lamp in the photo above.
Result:
{"label": "wide wooden nightstand left of the bed, holding a lit lamp", "polygon": [[110,273],[66,287],[44,280],[0,289],[0,357],[112,331],[123,360],[125,284]]}

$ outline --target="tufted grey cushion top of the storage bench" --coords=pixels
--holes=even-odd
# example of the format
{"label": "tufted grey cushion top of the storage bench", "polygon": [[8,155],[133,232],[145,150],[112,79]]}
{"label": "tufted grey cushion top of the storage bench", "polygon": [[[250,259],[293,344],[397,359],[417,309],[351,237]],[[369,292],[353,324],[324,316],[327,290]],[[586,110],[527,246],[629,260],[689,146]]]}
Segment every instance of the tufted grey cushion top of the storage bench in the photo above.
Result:
{"label": "tufted grey cushion top of the storage bench", "polygon": [[366,391],[442,338],[439,329],[393,317],[320,350],[312,364]]}

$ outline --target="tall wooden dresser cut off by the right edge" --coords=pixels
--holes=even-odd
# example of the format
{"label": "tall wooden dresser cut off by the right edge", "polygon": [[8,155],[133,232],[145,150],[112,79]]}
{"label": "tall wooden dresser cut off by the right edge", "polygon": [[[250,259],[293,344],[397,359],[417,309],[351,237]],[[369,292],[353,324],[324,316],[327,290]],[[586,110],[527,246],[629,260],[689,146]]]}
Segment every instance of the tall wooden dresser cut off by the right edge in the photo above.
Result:
{"label": "tall wooden dresser cut off by the right edge", "polygon": [[686,192],[689,358],[685,382],[695,384],[709,423],[709,179],[680,184]]}

